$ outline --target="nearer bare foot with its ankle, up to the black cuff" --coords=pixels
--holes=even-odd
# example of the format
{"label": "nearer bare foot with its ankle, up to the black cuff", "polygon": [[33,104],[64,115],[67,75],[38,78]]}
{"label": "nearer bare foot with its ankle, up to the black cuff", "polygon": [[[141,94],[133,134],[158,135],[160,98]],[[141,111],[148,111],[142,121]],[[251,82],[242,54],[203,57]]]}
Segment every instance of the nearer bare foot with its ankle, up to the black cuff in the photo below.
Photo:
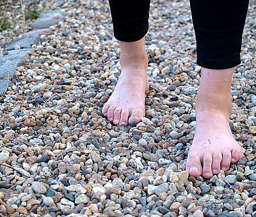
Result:
{"label": "nearer bare foot with its ankle, up to the black cuff", "polygon": [[200,91],[196,99],[196,131],[189,149],[186,170],[190,176],[209,179],[220,169],[243,157],[229,126],[232,110],[230,86],[233,68],[202,68]]}

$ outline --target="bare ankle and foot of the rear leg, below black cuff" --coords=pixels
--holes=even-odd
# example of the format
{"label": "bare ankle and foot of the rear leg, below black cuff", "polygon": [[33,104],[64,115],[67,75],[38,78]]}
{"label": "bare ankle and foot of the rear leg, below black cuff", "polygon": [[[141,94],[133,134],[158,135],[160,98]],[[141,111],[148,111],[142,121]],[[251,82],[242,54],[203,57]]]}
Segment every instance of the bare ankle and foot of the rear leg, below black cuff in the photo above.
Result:
{"label": "bare ankle and foot of the rear leg, below black cuff", "polygon": [[114,124],[134,125],[145,116],[145,94],[148,92],[145,37],[133,42],[119,41],[119,45],[122,70],[102,114]]}

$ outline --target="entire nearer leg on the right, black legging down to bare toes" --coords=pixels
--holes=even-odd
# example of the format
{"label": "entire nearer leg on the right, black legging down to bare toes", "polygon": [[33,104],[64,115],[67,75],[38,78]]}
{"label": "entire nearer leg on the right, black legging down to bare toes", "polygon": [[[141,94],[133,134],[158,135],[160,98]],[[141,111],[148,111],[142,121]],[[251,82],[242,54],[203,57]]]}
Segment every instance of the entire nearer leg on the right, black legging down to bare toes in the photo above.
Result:
{"label": "entire nearer leg on the right, black legging down to bare toes", "polygon": [[197,63],[202,80],[196,100],[196,132],[186,170],[205,178],[228,170],[243,156],[229,126],[230,86],[240,63],[241,38],[248,1],[191,0]]}

